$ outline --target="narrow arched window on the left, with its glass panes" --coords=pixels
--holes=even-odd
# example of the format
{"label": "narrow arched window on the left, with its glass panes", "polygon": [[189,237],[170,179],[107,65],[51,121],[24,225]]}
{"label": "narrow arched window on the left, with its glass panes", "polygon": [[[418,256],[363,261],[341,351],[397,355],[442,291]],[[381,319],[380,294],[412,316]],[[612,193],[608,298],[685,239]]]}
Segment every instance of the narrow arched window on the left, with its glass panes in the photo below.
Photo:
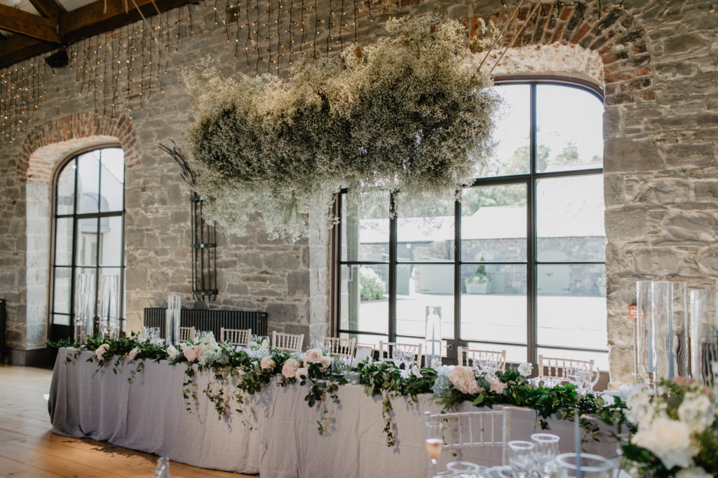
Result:
{"label": "narrow arched window on the left, with its glass panes", "polygon": [[79,274],[119,277],[124,330],[124,156],[102,148],[70,158],[55,176],[52,254],[52,338],[72,336]]}

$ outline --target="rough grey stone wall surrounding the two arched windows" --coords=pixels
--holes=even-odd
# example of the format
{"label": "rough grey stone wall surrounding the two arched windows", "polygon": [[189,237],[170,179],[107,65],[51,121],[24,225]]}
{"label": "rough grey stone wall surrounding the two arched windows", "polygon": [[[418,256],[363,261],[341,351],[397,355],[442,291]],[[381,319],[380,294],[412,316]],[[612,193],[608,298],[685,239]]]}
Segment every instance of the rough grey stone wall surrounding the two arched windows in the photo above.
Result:
{"label": "rough grey stone wall surrounding the two arched windows", "polygon": [[[302,18],[312,34],[314,18],[328,21],[320,24],[316,38],[308,36],[303,44],[295,43],[292,53],[287,51],[291,42],[286,35],[281,41],[281,25],[286,25],[289,11],[279,11],[276,3],[270,2],[270,7],[274,5],[274,15],[279,11],[279,29],[269,21],[266,37],[247,36],[246,30],[236,27],[229,32],[241,34],[229,37],[211,2],[189,7],[192,32],[187,21],[180,23],[188,7],[165,18],[173,35],[182,33],[184,58],[170,48],[175,64],[181,66],[185,59],[197,64],[213,53],[227,72],[253,75],[279,69],[285,75],[289,61],[296,58],[297,44],[304,51],[335,54],[342,46],[337,33],[345,47],[353,40],[353,22],[358,42],[367,44],[381,36],[381,23],[389,16],[437,12],[462,19],[473,29],[480,16],[505,21],[511,2],[506,3],[504,8],[499,0],[373,1],[368,9],[368,4],[359,2],[356,16],[346,20],[349,26],[337,32],[332,23],[336,17],[331,16],[337,6],[322,0],[316,11],[303,11]],[[608,345],[612,379],[625,381],[632,371],[633,324],[628,305],[635,301],[635,281],[681,279],[697,287],[717,285],[718,42],[714,32],[718,14],[712,0],[604,0],[574,6],[548,1],[526,23],[532,9],[533,5],[522,8],[516,27],[508,30],[506,42],[514,49],[495,74],[559,73],[605,87]],[[245,8],[245,19],[250,18],[248,11],[253,14],[254,9]],[[256,13],[263,18],[266,14]],[[327,29],[332,25],[333,33]],[[124,27],[95,42],[135,34],[140,27]],[[299,39],[297,29],[293,38]],[[158,76],[151,90],[143,90],[134,77],[127,85],[129,95],[114,94],[108,87],[111,82],[104,82],[99,100],[97,95],[88,96],[82,87],[85,70],[99,71],[83,60],[88,45],[91,50],[92,42],[72,47],[70,67],[48,75],[47,94],[32,124],[50,131],[61,118],[78,118],[80,128],[58,141],[100,134],[121,143],[119,137],[126,134],[122,131],[83,133],[83,125],[98,117],[126,118],[126,128],[135,132],[136,143],[128,143],[126,150],[131,158],[126,171],[126,257],[127,317],[130,327],[136,328],[141,310],[164,305],[168,293],[180,293],[185,305],[195,306],[187,303],[191,302],[189,198],[181,187],[179,168],[157,148],[158,143],[182,135],[192,117],[192,102],[174,71],[166,68],[167,62],[165,68],[158,68],[157,60],[154,73],[153,67],[149,72],[139,67],[145,80]],[[246,54],[240,48],[245,45]],[[118,61],[126,59],[122,51],[114,52]],[[139,62],[137,56],[134,61]],[[134,98],[134,106],[126,96]],[[33,267],[44,247],[37,234],[45,234],[50,219],[43,219],[47,211],[42,207],[29,206],[38,194],[29,175],[29,158],[32,148],[51,144],[27,140],[32,131],[0,147],[0,295],[8,300],[9,345],[19,349],[42,347],[46,313],[36,307],[44,292],[37,287],[43,282],[42,274],[38,276]],[[47,164],[35,166],[51,174],[66,154],[56,151]],[[270,241],[259,219],[250,225],[246,237],[222,236],[220,295],[210,307],[266,310],[272,329],[304,331],[307,337],[323,333],[329,320],[329,238],[319,219],[310,220],[312,235],[298,244]],[[28,277],[34,281],[32,287]]]}

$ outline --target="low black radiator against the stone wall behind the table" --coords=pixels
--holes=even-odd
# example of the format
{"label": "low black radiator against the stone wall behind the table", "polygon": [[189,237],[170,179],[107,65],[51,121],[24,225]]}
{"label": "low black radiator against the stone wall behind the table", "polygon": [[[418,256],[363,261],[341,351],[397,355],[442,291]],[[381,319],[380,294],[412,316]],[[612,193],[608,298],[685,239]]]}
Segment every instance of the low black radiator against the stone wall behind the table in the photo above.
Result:
{"label": "low black radiator against the stone wall behind the table", "polygon": [[[144,326],[159,327],[164,337],[164,317],[167,309],[150,307],[144,310]],[[212,330],[219,339],[220,328],[252,329],[255,335],[267,335],[267,313],[243,310],[182,309],[180,325],[194,327],[195,332]]]}

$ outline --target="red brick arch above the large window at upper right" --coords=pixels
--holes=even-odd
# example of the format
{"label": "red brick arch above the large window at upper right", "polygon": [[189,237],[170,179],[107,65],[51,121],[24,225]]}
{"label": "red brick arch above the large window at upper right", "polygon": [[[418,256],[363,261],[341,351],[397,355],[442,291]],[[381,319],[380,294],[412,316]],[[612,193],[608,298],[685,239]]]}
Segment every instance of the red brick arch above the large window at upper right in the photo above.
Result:
{"label": "red brick arch above the large window at upper right", "polygon": [[[591,50],[602,62],[605,105],[655,100],[651,90],[652,59],[646,48],[645,32],[627,10],[605,6],[599,12],[595,1],[576,5],[546,3],[528,19],[534,6],[519,9],[516,21],[504,34],[504,45],[521,48],[561,44]],[[512,9],[506,9],[489,19],[502,27],[512,13]],[[472,35],[478,19],[472,18]],[[494,58],[498,56],[493,54]]]}

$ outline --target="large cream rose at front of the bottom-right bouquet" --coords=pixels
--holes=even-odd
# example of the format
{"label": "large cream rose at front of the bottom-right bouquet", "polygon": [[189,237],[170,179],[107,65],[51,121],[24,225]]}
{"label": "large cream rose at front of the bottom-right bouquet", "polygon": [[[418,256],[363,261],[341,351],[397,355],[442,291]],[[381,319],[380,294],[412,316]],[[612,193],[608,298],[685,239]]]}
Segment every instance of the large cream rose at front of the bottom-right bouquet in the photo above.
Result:
{"label": "large cream rose at front of the bottom-right bouquet", "polygon": [[667,469],[678,465],[686,468],[699,449],[691,442],[691,428],[682,421],[664,417],[653,420],[651,426],[633,435],[631,443],[651,451]]}

